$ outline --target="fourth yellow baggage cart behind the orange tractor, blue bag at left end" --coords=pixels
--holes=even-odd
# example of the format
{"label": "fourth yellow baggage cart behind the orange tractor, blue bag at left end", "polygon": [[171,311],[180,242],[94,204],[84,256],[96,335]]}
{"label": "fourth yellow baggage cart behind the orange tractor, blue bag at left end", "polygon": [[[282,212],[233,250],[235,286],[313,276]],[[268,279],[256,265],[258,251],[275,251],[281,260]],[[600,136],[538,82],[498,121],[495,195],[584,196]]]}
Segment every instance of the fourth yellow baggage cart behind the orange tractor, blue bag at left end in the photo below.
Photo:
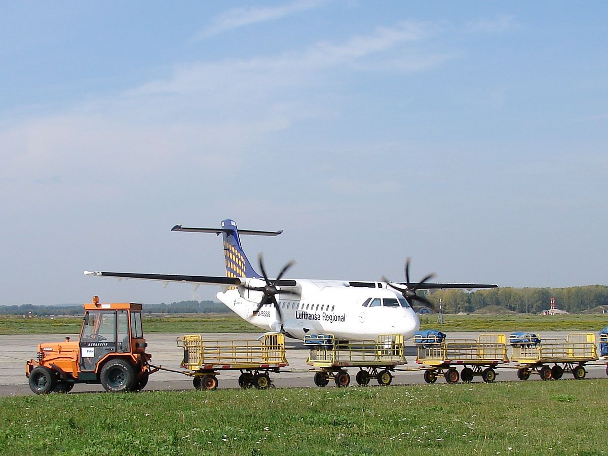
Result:
{"label": "fourth yellow baggage cart behind the orange tractor, blue bag at left end", "polygon": [[522,340],[513,344],[511,356],[511,361],[517,363],[517,378],[520,380],[527,380],[531,374],[537,374],[543,380],[557,380],[564,373],[571,373],[575,379],[582,380],[587,374],[585,364],[597,359],[593,333],[570,333],[565,339],[544,339],[540,344]]}

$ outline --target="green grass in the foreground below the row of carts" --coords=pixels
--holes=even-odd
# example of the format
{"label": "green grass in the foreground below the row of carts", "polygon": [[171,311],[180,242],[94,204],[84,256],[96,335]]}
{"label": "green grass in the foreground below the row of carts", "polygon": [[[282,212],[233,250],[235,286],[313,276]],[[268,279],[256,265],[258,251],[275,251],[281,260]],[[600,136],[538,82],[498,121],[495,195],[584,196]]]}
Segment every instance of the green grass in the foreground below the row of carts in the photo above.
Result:
{"label": "green grass in the foreground below the row of carts", "polygon": [[606,454],[606,380],[0,398],[11,454]]}

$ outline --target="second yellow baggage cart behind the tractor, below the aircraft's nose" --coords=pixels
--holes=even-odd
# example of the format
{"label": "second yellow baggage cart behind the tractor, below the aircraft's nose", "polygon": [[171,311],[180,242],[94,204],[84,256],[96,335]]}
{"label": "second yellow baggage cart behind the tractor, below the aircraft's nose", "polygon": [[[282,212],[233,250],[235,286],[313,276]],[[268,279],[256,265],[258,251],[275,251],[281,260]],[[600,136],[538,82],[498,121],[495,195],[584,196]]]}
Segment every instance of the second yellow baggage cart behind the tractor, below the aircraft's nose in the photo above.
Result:
{"label": "second yellow baggage cart behind the tractor, below the aircraft's nose", "polygon": [[407,364],[402,334],[382,334],[376,340],[336,340],[333,334],[310,334],[304,337],[309,347],[306,363],[316,372],[314,384],[324,387],[330,378],[338,387],[350,384],[347,367],[358,367],[359,385],[375,378],[380,385],[390,385],[395,366]]}

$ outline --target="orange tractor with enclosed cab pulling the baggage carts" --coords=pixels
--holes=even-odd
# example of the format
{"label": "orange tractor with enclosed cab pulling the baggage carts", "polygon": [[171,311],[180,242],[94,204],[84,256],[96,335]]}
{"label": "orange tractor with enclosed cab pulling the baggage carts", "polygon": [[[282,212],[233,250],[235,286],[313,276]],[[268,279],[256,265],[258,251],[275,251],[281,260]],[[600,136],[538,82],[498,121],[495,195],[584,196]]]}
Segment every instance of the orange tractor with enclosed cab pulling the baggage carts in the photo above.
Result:
{"label": "orange tractor with enclosed cab pulling the baggage carts", "polygon": [[76,383],[101,383],[107,391],[139,391],[151,370],[145,353],[142,305],[102,304],[97,296],[83,305],[85,317],[77,342],[38,345],[38,356],[26,364],[36,394],[67,393]]}

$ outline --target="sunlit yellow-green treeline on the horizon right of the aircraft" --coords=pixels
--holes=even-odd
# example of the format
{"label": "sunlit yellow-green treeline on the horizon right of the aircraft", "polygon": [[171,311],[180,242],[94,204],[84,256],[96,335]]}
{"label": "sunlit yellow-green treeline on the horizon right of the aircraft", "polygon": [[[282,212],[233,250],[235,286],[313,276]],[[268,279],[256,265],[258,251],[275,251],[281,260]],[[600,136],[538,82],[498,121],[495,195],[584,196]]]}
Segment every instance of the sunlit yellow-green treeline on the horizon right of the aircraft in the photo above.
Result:
{"label": "sunlit yellow-green treeline on the horizon right of the aircraft", "polygon": [[434,290],[427,299],[435,306],[441,304],[445,313],[471,313],[486,306],[500,306],[519,313],[541,313],[551,307],[578,313],[597,306],[608,306],[608,286],[589,285],[569,288],[492,288],[466,292],[464,290]]}

